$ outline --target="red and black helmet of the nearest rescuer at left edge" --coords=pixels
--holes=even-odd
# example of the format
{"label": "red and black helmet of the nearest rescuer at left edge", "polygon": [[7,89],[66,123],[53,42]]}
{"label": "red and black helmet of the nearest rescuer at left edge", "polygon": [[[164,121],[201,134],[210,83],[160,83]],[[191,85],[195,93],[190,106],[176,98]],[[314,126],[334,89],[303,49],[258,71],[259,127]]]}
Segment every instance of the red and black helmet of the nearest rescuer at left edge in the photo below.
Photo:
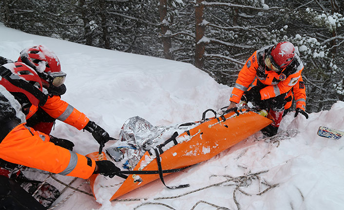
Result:
{"label": "red and black helmet of the nearest rescuer at left edge", "polygon": [[48,95],[43,93],[41,78],[21,62],[0,66],[0,85],[11,93],[22,93],[34,106],[43,106]]}

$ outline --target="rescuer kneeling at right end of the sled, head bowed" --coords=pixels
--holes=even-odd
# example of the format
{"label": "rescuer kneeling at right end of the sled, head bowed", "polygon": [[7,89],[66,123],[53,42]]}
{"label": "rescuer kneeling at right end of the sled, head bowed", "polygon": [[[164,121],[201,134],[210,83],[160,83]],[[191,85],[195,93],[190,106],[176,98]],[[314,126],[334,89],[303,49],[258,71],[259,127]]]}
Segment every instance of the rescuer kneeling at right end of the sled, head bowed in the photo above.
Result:
{"label": "rescuer kneeling at right end of the sled, head bowed", "polygon": [[290,42],[279,42],[255,51],[239,72],[228,109],[236,107],[241,99],[253,102],[273,118],[262,133],[266,136],[277,134],[284,112],[284,98],[300,79],[303,69],[304,65]]}

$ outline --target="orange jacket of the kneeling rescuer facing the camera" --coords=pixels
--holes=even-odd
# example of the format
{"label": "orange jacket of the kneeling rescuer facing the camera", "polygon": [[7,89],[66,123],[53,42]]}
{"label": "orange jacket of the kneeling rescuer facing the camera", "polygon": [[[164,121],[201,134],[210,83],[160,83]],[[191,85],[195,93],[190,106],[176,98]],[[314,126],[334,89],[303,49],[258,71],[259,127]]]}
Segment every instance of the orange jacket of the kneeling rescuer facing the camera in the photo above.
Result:
{"label": "orange jacket of the kneeling rescuer facing the camera", "polygon": [[260,90],[262,100],[287,93],[297,83],[304,69],[300,57],[295,55],[292,62],[282,73],[277,74],[274,71],[270,71],[264,62],[265,55],[271,50],[272,46],[257,50],[248,58],[246,64],[239,72],[238,79],[230,95],[230,101],[239,103],[241,96],[248,90],[255,78],[267,85]]}

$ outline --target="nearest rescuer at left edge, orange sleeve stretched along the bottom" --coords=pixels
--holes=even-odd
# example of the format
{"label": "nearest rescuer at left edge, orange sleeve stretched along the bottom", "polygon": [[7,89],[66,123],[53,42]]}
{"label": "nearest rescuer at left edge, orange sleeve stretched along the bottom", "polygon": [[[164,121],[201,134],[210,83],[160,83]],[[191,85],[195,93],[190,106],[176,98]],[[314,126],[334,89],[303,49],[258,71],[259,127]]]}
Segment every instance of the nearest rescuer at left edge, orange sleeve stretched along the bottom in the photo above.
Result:
{"label": "nearest rescuer at left edge, orange sleeve stretched along the bottom", "polygon": [[[95,161],[57,146],[58,142],[52,142],[49,135],[26,125],[30,111],[44,107],[49,97],[32,68],[21,62],[0,66],[0,158],[83,179],[94,173],[113,177],[119,172],[111,161]],[[0,175],[0,206],[16,210],[46,209],[10,178]]]}

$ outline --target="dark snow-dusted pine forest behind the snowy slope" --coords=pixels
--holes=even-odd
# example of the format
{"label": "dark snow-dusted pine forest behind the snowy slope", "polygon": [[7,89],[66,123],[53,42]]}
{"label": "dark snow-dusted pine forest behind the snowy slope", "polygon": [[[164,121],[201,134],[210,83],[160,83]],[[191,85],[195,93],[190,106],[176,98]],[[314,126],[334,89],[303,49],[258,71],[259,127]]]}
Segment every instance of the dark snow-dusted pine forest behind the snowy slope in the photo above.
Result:
{"label": "dark snow-dusted pine forest behind the snowy slope", "polygon": [[229,86],[255,50],[290,41],[305,65],[306,111],[344,100],[343,0],[0,0],[0,21],[30,34],[192,63]]}

